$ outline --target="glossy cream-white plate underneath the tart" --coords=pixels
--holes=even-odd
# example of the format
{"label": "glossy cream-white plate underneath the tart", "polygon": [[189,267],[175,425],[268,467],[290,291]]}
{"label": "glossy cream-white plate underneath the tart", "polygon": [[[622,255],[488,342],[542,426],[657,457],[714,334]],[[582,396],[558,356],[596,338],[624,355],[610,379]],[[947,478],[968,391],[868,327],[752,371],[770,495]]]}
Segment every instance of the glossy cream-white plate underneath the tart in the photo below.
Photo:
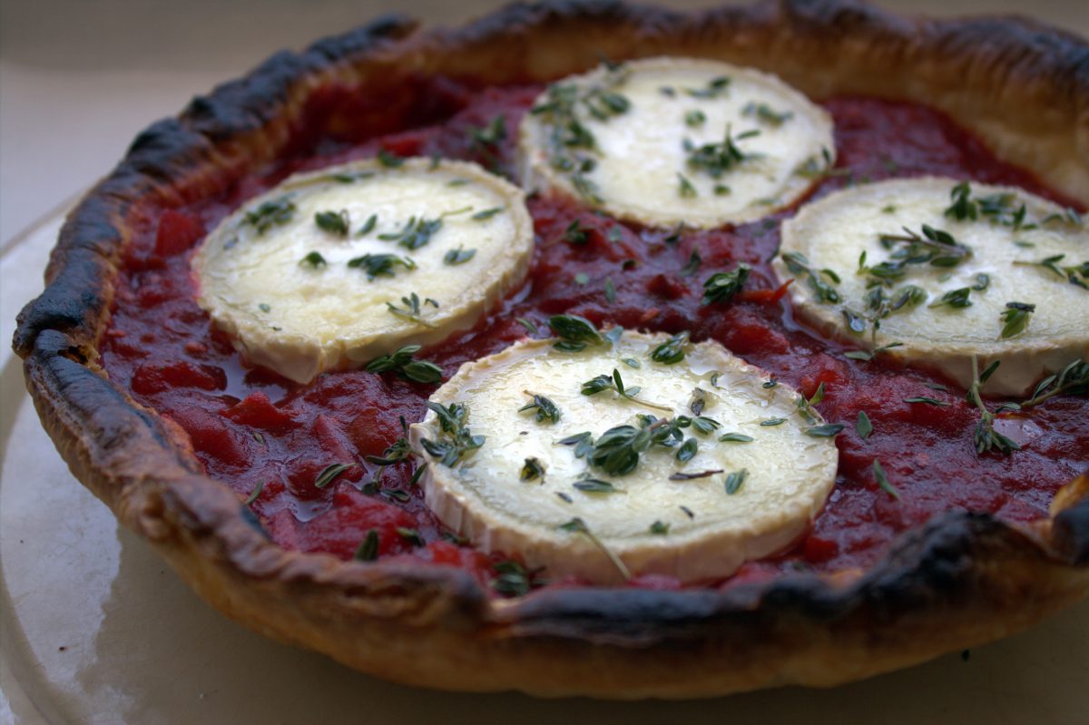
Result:
{"label": "glossy cream-white plate underneath the tart", "polygon": [[[60,217],[0,259],[4,345]],[[69,472],[0,353],[0,723],[1085,723],[1089,601],[1011,639],[831,690],[615,703],[391,685],[199,600]]]}

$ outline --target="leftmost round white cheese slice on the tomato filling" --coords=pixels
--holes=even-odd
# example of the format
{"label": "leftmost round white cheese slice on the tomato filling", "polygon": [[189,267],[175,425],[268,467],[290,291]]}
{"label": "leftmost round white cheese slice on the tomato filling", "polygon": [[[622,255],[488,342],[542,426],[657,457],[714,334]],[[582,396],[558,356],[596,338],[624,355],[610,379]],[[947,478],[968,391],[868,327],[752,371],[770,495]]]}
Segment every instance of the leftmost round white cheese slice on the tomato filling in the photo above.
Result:
{"label": "leftmost round white cheese slice on the tomato filling", "polygon": [[193,259],[197,298],[253,362],[297,382],[470,328],[525,279],[524,194],[460,161],[292,176]]}

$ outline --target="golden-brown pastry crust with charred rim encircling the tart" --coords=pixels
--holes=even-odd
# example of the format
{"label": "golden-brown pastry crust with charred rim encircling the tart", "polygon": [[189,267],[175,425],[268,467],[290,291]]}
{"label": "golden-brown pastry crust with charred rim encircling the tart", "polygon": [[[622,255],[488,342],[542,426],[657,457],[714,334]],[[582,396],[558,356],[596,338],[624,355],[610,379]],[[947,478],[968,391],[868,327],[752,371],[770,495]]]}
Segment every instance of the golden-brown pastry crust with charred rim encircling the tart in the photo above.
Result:
{"label": "golden-brown pastry crust with charred rim encircling the tart", "polygon": [[937,516],[857,576],[797,575],[725,593],[571,588],[497,601],[452,567],[345,563],[277,546],[227,487],[201,474],[187,437],[97,365],[134,225],[274,159],[316,89],[389,87],[440,72],[543,81],[586,70],[602,52],[718,58],[773,72],[816,98],[923,102],[1089,201],[1089,46],[1025,21],[908,21],[846,0],[690,14],[517,4],[427,34],[386,17],[279,53],[152,125],[69,217],[14,347],[76,477],[225,614],[365,672],[438,688],[635,698],[829,686],[1005,636],[1089,591],[1082,476],[1049,520],[1014,528],[987,514]]}

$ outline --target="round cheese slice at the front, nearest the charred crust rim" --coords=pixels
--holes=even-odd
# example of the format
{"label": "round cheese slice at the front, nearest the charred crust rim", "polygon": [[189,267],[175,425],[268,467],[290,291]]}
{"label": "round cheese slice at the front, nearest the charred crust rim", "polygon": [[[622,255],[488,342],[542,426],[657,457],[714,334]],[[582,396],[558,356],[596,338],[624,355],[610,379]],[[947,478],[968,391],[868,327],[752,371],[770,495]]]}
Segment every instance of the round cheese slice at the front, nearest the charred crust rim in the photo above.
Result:
{"label": "round cheese slice at the front, nearest the charred crust rim", "polygon": [[[835,430],[819,428],[819,416],[799,413],[795,391],[766,386],[767,373],[718,343],[685,345],[672,365],[654,361],[669,340],[625,332],[576,353],[525,341],[462,366],[431,405],[464,406],[462,440],[479,447],[441,460],[456,437],[433,407],[412,427],[412,444],[429,462],[428,506],[485,551],[601,583],[725,577],[788,546],[832,489]],[[598,376],[615,380],[614,370],[626,395],[615,385],[582,392]],[[535,395],[555,415],[524,409]],[[584,450],[624,426],[660,431],[695,418],[697,400],[702,418],[676,427],[685,443],[671,435],[673,445],[649,445],[627,472],[616,460],[591,463],[596,453]]]}

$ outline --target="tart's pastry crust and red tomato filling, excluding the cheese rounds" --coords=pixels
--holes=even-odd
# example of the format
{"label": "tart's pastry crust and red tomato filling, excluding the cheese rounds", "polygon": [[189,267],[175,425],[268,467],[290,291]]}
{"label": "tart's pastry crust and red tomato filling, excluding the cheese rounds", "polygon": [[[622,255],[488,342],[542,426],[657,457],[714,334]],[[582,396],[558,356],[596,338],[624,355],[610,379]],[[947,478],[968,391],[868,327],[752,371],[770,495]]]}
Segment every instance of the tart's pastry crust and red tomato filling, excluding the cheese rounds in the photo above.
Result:
{"label": "tart's pastry crust and red tomato filling, excluding the cheese rounds", "polygon": [[[659,228],[529,174],[547,184],[534,182],[527,201],[528,272],[512,262],[499,306],[479,305],[488,311],[475,327],[444,342],[421,337],[432,347],[420,358],[450,378],[525,344],[527,330],[549,336],[554,316],[585,315],[602,331],[614,322],[714,340],[767,382],[796,388],[799,408],[846,427],[835,431],[835,486],[791,549],[760,551],[724,579],[648,570],[615,586],[575,569],[546,583],[528,556],[467,545],[413,488],[413,458],[442,466],[443,456],[397,447],[400,425],[420,420],[435,392],[433,371],[407,367],[418,351],[390,348],[383,360],[368,347],[371,371],[345,369],[362,360],[344,353],[313,381],[299,380],[311,369],[292,380],[240,356],[247,345],[197,305],[194,248],[225,244],[222,220],[292,173],[435,153],[514,179],[515,118],[602,56],[778,76],[831,118],[834,152],[803,169],[812,184],[800,199],[791,187],[768,216],[749,221],[745,205],[723,228]],[[797,291],[829,275],[795,257],[780,280],[770,259],[784,220],[888,177],[940,177],[951,193],[1012,186],[1069,209],[1054,223],[1077,228],[1089,202],[1087,56],[1082,40],[1024,21],[907,21],[846,2],[687,14],[521,4],[430,33],[384,19],[278,54],[140,134],[69,218],[14,347],[59,451],[122,523],[229,616],[350,666],[427,687],[625,698],[828,686],[906,666],[1019,630],[1089,589],[1087,407],[1068,394],[1085,371],[1076,359],[1048,362],[1049,377],[1018,398],[1031,405],[996,413],[984,400],[990,369],[966,381],[884,355],[895,348],[853,337],[849,315],[847,332],[796,323]],[[697,194],[714,194],[705,181]],[[969,189],[970,204],[981,213]],[[332,234],[366,225],[328,211]],[[449,251],[455,267],[467,254]],[[320,272],[310,259],[304,271]],[[1021,328],[1008,336],[1025,319],[1039,327],[1010,309]],[[612,385],[623,397],[619,377]]]}

